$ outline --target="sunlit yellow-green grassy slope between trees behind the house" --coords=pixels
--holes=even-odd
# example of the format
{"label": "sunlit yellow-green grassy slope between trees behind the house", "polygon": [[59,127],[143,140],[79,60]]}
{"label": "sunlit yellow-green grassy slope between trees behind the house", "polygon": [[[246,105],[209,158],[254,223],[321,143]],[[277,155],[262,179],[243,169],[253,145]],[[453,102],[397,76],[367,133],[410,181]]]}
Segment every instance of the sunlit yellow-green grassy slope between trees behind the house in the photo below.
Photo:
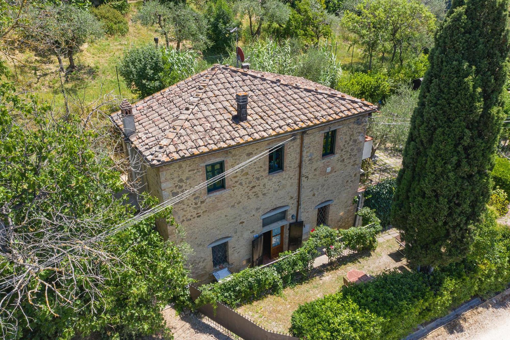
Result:
{"label": "sunlit yellow-green grassy slope between trees behind the house", "polygon": [[[132,17],[142,1],[131,2]],[[328,42],[337,47],[337,58],[342,62],[344,73],[348,72],[351,60],[352,49],[349,48],[351,37],[343,32],[340,28],[333,28],[335,37],[329,39]],[[136,96],[126,87],[122,77],[119,76],[117,84],[117,75],[115,66],[119,63],[120,58],[126,48],[132,45],[140,45],[143,43],[152,43],[155,36],[160,36],[156,32],[156,28],[147,28],[139,23],[133,23],[130,20],[130,31],[126,36],[106,36],[94,42],[86,43],[82,46],[81,52],[75,55],[75,63],[78,70],[63,78],[65,91],[70,95],[80,96],[84,102],[92,102],[105,93],[113,91],[115,94],[120,93],[123,98],[134,99]],[[160,37],[161,40],[162,37]],[[9,64],[12,71],[12,80],[16,82],[19,90],[30,91],[34,93],[40,100],[53,102],[57,108],[63,107],[64,98],[60,85],[60,77],[58,70],[58,62],[56,58],[52,58],[48,64],[39,66],[38,61],[32,53],[25,53],[19,56],[22,63],[16,63],[16,66]],[[354,49],[354,63],[362,61],[362,53],[359,46]],[[25,65],[23,65],[23,63]],[[66,67],[68,61],[64,59]]]}

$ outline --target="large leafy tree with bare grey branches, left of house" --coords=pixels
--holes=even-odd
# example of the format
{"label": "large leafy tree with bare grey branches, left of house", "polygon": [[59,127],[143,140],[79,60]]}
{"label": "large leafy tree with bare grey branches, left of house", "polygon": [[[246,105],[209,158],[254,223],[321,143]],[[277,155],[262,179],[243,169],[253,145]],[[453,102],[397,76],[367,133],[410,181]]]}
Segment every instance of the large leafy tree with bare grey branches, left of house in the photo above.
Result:
{"label": "large leafy tree with bare grey branches, left of house", "polygon": [[[165,332],[161,308],[187,304],[184,245],[123,205],[120,173],[91,148],[100,129],[57,116],[0,83],[0,328],[4,338],[140,338]],[[71,110],[72,112],[72,110]],[[154,204],[142,202],[142,209]]]}

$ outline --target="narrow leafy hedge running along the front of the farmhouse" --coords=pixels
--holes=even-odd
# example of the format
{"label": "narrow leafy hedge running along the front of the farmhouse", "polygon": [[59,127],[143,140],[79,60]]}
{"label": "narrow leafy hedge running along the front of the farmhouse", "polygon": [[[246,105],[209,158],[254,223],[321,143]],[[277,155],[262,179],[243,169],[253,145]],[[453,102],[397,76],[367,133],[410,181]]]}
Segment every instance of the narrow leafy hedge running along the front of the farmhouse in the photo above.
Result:
{"label": "narrow leafy hedge running along the front of the farmhouse", "polygon": [[[369,227],[350,228],[337,231],[327,226],[312,229],[310,238],[303,242],[299,252],[291,255],[291,251],[280,253],[280,257],[288,256],[264,268],[246,268],[234,273],[221,282],[213,282],[200,286],[202,294],[195,301],[197,307],[221,302],[230,307],[258,299],[266,294],[279,294],[285,286],[292,285],[299,274],[306,275],[313,269],[315,258],[319,255],[319,247],[326,248],[329,260],[338,258],[345,246],[351,250],[373,250],[377,247],[377,233],[381,230],[380,221],[368,208],[360,210],[367,224],[375,218]],[[338,235],[343,236],[337,241]],[[345,240],[345,245],[342,241]]]}

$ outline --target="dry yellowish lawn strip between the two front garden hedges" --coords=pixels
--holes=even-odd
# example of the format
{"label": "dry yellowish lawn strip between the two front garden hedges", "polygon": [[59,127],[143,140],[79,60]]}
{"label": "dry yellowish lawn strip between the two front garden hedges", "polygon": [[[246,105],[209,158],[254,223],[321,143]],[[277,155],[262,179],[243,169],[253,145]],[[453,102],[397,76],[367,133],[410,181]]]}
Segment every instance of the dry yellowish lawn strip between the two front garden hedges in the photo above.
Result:
{"label": "dry yellowish lawn strip between the two front garden hedges", "polygon": [[337,265],[323,265],[311,274],[311,277],[294,287],[287,287],[279,296],[267,296],[251,304],[237,308],[237,311],[267,329],[288,332],[292,312],[300,304],[322,298],[324,295],[338,292],[343,285],[343,277],[352,269],[363,270],[369,275],[378,274],[386,269],[401,267],[407,270],[407,263],[397,251],[394,239],[380,242],[372,252],[363,252],[348,258],[349,261]]}

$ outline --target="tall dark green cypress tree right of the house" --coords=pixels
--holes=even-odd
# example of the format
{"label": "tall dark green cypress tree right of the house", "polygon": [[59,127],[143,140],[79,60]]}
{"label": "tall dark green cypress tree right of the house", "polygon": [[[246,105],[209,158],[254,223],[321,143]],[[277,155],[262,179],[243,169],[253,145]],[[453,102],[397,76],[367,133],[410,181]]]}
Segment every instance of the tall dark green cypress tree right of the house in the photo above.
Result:
{"label": "tall dark green cypress tree right of the house", "polygon": [[508,0],[453,0],[429,55],[392,208],[407,259],[429,271],[467,254],[489,200],[507,20]]}

